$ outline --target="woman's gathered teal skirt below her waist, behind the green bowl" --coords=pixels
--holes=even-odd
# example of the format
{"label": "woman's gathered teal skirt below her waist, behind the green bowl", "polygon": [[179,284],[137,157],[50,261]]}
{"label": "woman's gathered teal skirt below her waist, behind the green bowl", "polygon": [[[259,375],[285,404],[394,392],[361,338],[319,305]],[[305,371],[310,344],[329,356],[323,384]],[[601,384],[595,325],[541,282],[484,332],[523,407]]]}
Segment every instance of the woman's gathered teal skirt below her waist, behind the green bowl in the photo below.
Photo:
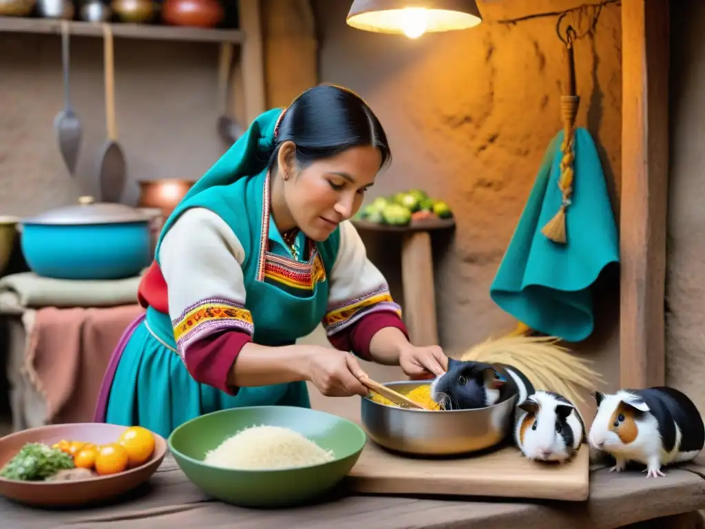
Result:
{"label": "woman's gathered teal skirt below her waist, behind the green bowl", "polygon": [[235,395],[196,382],[178,353],[152,336],[140,316],[115,348],[94,420],[143,426],[166,438],[200,415],[244,406],[310,408],[311,403],[305,382],[243,387]]}

